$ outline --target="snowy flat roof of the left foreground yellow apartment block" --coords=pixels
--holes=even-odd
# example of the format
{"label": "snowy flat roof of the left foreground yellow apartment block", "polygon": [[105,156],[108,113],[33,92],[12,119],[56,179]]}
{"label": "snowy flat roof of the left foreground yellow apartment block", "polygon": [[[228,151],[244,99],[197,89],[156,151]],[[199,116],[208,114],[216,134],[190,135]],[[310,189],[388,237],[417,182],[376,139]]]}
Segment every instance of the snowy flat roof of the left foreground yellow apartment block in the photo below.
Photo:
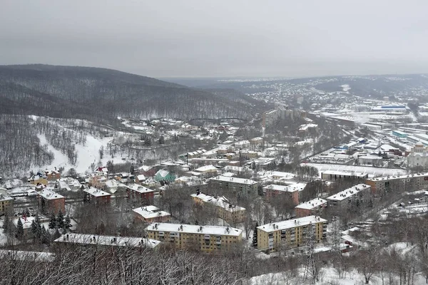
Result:
{"label": "snowy flat roof of the left foreground yellow apartment block", "polygon": [[[183,226],[183,229],[181,229]],[[146,227],[147,231],[155,232],[185,232],[190,234],[218,234],[238,237],[242,234],[242,229],[234,227],[216,227],[216,226],[199,226],[197,224],[170,224],[170,223],[152,223]]]}

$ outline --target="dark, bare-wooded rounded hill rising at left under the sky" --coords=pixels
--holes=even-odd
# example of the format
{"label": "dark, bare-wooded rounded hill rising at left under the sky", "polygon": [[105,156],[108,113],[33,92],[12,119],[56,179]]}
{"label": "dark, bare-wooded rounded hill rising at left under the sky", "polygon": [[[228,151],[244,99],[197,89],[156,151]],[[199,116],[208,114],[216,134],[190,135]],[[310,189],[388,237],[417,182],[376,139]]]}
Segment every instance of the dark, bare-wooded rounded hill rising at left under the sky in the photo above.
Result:
{"label": "dark, bare-wooded rounded hill rising at left under the sky", "polygon": [[[231,94],[232,96],[233,94]],[[110,120],[248,118],[257,103],[106,68],[0,66],[0,113]]]}

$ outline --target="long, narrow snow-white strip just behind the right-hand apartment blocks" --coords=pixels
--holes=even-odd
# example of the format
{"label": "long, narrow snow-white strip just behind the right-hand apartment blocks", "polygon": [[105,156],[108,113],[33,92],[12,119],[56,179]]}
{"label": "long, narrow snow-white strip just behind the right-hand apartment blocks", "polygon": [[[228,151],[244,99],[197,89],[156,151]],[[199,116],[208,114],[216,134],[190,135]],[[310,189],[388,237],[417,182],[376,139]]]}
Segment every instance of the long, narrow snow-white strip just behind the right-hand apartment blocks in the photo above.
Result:
{"label": "long, narrow snow-white strip just behind the right-hand apartment blocks", "polygon": [[394,176],[394,175],[404,175],[407,174],[406,170],[395,169],[395,168],[381,168],[381,167],[369,167],[369,166],[358,166],[358,165],[330,165],[323,163],[303,163],[303,165],[313,166],[317,168],[320,172],[325,171],[350,171],[355,173],[364,173],[369,175],[369,177],[374,176]]}

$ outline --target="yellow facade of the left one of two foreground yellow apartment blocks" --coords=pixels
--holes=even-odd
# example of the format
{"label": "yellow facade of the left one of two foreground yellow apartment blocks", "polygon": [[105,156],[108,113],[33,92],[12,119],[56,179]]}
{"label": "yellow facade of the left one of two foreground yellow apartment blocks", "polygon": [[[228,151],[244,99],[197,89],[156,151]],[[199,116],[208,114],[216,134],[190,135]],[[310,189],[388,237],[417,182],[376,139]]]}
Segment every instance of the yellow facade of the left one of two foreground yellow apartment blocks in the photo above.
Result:
{"label": "yellow facade of the left one of two foreground yellow apartment blocks", "polygon": [[[177,227],[180,227],[177,224]],[[205,238],[205,236],[209,236]],[[165,244],[170,244],[178,249],[199,249],[202,252],[220,252],[231,249],[242,242],[242,234],[238,237],[228,235],[186,233],[186,232],[163,232],[148,229],[148,238],[156,239]]]}

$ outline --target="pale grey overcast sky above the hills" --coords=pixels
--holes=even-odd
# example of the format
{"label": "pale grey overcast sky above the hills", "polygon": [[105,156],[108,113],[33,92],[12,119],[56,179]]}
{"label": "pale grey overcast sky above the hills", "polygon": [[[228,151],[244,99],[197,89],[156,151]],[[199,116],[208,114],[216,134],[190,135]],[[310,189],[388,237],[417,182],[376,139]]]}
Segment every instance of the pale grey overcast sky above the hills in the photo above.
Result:
{"label": "pale grey overcast sky above the hills", "polygon": [[2,0],[0,64],[151,77],[428,73],[428,1]]}

